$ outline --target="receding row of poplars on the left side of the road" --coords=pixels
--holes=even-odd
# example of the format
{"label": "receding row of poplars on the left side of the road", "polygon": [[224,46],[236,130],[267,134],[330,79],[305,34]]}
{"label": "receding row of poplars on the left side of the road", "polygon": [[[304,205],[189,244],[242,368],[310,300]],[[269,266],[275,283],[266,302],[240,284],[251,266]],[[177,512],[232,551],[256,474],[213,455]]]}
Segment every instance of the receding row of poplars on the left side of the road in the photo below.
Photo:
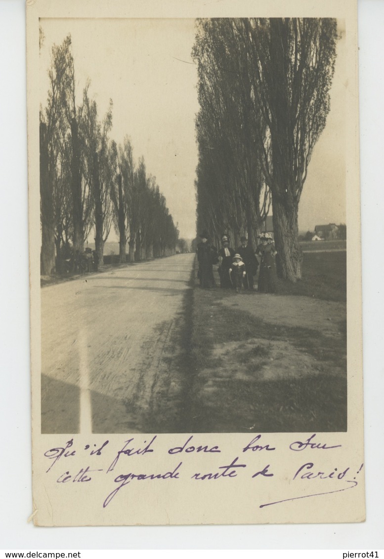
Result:
{"label": "receding row of poplars on the left side of the road", "polygon": [[110,138],[112,101],[100,119],[88,82],[76,102],[70,35],[53,46],[48,75],[48,99],[40,109],[41,273],[51,273],[71,250],[83,252],[91,231],[102,262],[112,226],[120,262],[127,244],[131,261],[174,253],[179,231],[156,178],[143,158],[135,163],[128,137],[123,145]]}

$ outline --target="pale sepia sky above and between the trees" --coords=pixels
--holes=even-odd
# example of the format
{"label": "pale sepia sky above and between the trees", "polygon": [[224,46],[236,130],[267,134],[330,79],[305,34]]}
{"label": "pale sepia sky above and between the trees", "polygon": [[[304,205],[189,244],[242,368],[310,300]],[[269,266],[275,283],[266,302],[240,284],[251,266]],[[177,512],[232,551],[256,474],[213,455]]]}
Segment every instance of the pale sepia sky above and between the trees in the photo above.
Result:
{"label": "pale sepia sky above and between the trees", "polygon": [[[99,117],[113,100],[111,138],[129,136],[134,159],[143,155],[156,177],[180,236],[196,234],[196,65],[191,59],[192,19],[42,19],[40,102],[48,93],[53,44],[71,33],[77,100],[87,79]],[[331,110],[313,151],[299,204],[299,230],[346,221],[345,216],[345,37],[338,42]],[[117,240],[114,231],[109,240]]]}

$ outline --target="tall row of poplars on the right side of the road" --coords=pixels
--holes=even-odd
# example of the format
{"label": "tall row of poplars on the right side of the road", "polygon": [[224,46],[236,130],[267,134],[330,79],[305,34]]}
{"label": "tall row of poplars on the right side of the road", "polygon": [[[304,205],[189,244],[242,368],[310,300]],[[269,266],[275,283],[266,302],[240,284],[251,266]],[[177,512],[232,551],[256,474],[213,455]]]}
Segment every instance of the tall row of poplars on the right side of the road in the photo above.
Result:
{"label": "tall row of poplars on the right side of the road", "polygon": [[198,229],[249,239],[273,207],[280,274],[301,278],[298,205],[330,109],[334,19],[199,20]]}

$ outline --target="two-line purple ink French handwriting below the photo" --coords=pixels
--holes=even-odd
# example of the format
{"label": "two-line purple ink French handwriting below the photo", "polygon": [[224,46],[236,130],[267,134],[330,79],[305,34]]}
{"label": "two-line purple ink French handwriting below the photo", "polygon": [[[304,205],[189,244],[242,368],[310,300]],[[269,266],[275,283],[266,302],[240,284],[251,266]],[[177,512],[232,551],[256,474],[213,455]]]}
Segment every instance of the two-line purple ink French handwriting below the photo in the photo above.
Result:
{"label": "two-line purple ink French handwriting below the photo", "polygon": [[[72,471],[71,468],[67,468],[65,472],[60,473],[59,477],[56,477],[56,474],[55,481],[61,486],[68,483],[92,482],[95,477],[99,477],[100,479],[100,476],[106,476],[105,481],[107,484],[110,484],[112,481],[110,477],[111,472],[120,470],[116,472],[118,475],[115,474],[113,479],[113,489],[110,490],[102,503],[103,508],[108,506],[111,501],[115,499],[116,495],[120,494],[123,487],[126,487],[133,481],[161,482],[163,480],[169,480],[173,482],[173,480],[179,480],[181,477],[184,477],[185,480],[190,480],[190,482],[209,482],[219,479],[233,480],[241,475],[249,480],[259,480],[257,483],[263,483],[263,480],[269,480],[268,484],[272,484],[269,487],[269,492],[273,490],[273,478],[276,477],[274,472],[276,467],[274,466],[278,465],[279,460],[278,448],[271,444],[270,441],[265,440],[265,435],[255,435],[245,447],[238,449],[238,451],[236,451],[236,448],[231,448],[234,453],[239,454],[240,451],[242,459],[240,459],[239,456],[235,456],[235,458],[225,462],[218,461],[216,468],[210,467],[209,470],[208,468],[204,468],[204,462],[206,461],[204,456],[222,453],[223,449],[220,448],[218,444],[204,444],[204,441],[200,441],[196,435],[190,435],[189,437],[179,441],[176,440],[175,442],[176,446],[172,446],[164,451],[164,449],[160,450],[156,446],[158,443],[157,435],[154,435],[151,440],[131,437],[124,441],[118,451],[115,451],[111,448],[109,440],[105,440],[101,445],[93,443],[93,445],[86,444],[85,447],[75,448],[74,439],[71,438],[66,443],[62,444],[62,446],[51,448],[44,453],[44,456],[49,461],[49,467],[46,473],[49,474],[58,461],[65,460],[65,464],[68,463],[70,465],[71,458],[73,459],[80,453],[85,454],[85,460],[88,464],[86,462],[81,468],[77,466],[75,469],[73,467]],[[315,452],[316,456],[318,451],[334,452],[333,449],[340,447],[341,444],[320,442],[317,440],[316,433],[313,433],[304,440],[295,440],[288,445],[288,449],[291,451]],[[166,452],[166,456],[168,456],[170,460],[176,454],[182,455],[184,456],[184,462],[179,461],[177,464],[176,462],[170,462],[167,471],[165,468],[165,470],[159,472],[156,468],[156,453],[164,454],[164,452]],[[254,454],[255,452],[256,454]],[[269,454],[270,452],[273,452],[273,454]],[[257,456],[259,456],[259,453],[261,453],[260,456],[268,453],[276,462],[273,463],[272,460],[269,460],[271,463],[265,466],[263,464],[257,464],[255,468],[255,458],[256,460],[258,459]],[[148,457],[143,459],[146,455],[148,455]],[[188,457],[191,455],[198,455],[199,461],[201,462],[201,469],[195,471],[192,475],[188,468]],[[247,457],[252,457],[251,465],[247,463]],[[69,461],[67,462],[68,459]],[[89,462],[90,459],[93,461],[92,464]],[[102,467],[105,466],[105,462],[109,464],[109,466]],[[212,464],[212,458],[210,459],[210,463]],[[277,505],[286,501],[294,501],[296,499],[305,499],[353,489],[353,487],[358,485],[357,475],[362,468],[363,464],[360,466],[359,470],[356,471],[355,475],[352,475],[354,470],[353,466],[350,465],[343,465],[341,468],[336,466],[329,471],[319,467],[317,463],[315,465],[315,461],[303,462],[300,467],[296,467],[295,471],[291,473],[292,482],[296,482],[299,484],[298,487],[301,488],[299,493],[302,493],[303,484],[311,482],[311,487],[313,487],[312,480],[321,480],[320,483],[325,484],[324,491],[308,491],[305,495],[296,494],[289,498],[283,498],[283,495],[277,495],[274,501],[260,504],[259,508],[263,509],[266,506]],[[289,485],[289,487],[293,488],[294,485]],[[319,486],[317,485],[316,488],[317,487]]]}

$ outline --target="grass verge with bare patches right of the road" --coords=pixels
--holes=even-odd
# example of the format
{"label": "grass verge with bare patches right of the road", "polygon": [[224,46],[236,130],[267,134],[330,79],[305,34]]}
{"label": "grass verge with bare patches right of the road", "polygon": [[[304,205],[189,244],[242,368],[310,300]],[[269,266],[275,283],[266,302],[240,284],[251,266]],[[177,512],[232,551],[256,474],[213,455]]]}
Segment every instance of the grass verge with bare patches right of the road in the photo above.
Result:
{"label": "grass verge with bare patches right of the road", "polygon": [[[345,255],[306,254],[305,263],[303,281],[285,293],[343,301]],[[326,323],[324,330],[303,328],[294,320],[289,326],[269,323],[252,303],[257,294],[249,299],[249,311],[224,305],[227,297],[233,297],[227,290],[195,288],[189,430],[345,431],[345,317],[335,326],[337,335],[330,335]],[[280,295],[269,297],[271,305],[284,304]]]}

